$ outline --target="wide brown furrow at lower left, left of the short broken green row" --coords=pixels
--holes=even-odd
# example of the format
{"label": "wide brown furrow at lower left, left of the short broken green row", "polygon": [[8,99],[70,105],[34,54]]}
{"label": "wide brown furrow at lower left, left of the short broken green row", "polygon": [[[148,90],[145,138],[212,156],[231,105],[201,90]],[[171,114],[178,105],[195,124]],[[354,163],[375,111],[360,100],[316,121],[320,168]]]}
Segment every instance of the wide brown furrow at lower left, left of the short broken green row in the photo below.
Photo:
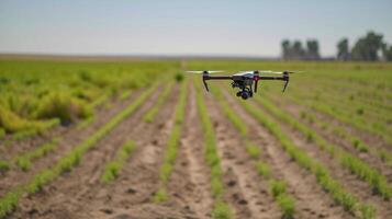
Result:
{"label": "wide brown furrow at lower left, left of the short broken green row", "polygon": [[[141,122],[141,117],[154,105],[157,96],[158,91],[135,114],[99,141],[96,148],[88,151],[81,158],[83,160],[81,165],[72,172],[61,175],[57,181],[44,187],[40,194],[22,200],[13,217],[72,218],[83,212],[87,203],[90,201],[88,200],[89,195],[96,194],[94,188],[100,186],[99,180],[103,165],[113,158],[116,149],[126,140],[136,140],[135,138],[139,137],[148,138],[148,135],[152,135],[147,130],[154,129],[147,128],[147,124]],[[139,145],[137,140],[136,143]]]}

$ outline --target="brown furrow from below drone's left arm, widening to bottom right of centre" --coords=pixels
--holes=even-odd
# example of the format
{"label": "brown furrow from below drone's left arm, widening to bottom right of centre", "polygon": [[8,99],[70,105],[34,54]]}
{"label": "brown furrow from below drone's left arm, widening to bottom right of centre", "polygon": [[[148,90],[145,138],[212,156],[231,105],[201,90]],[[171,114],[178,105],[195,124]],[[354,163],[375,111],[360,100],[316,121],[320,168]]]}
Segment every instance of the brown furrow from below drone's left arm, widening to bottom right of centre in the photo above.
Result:
{"label": "brown furrow from below drone's left arm, widening to bottom right of centre", "polygon": [[249,160],[244,140],[222,115],[215,101],[208,96],[205,103],[215,126],[223,172],[228,176],[225,184],[237,209],[236,218],[280,218],[267,183],[258,176],[255,162]]}

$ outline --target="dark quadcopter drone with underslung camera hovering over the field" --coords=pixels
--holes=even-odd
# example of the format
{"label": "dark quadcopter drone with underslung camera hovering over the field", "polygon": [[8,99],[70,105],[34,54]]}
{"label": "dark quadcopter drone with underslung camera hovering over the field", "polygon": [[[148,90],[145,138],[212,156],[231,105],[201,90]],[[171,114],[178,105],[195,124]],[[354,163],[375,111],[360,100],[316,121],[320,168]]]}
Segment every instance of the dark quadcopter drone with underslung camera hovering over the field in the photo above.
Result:
{"label": "dark quadcopter drone with underslung camera hovering over the field", "polygon": [[[237,96],[243,100],[247,100],[254,96],[254,92],[257,93],[257,85],[259,80],[280,80],[284,81],[283,90],[289,85],[289,74],[298,73],[300,71],[266,71],[266,70],[255,70],[255,71],[240,71],[238,73],[234,73],[233,76],[210,76],[211,73],[223,72],[222,70],[211,71],[187,71],[189,73],[202,73],[202,80],[205,90],[209,92],[209,85],[206,83],[208,80],[232,80],[232,88],[238,88]],[[279,74],[279,76],[260,76],[260,74]],[[255,82],[255,84],[254,84]]]}

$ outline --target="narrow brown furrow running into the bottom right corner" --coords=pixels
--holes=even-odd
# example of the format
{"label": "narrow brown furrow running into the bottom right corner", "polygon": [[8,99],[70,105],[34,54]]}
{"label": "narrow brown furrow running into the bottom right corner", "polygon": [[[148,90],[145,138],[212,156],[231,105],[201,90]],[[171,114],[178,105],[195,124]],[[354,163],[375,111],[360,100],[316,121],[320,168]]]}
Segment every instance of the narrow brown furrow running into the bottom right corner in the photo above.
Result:
{"label": "narrow brown furrow running into the bottom right corner", "polygon": [[[255,107],[260,107],[255,104]],[[268,113],[266,115],[269,115]],[[271,115],[269,115],[271,116]],[[277,119],[278,120],[278,119]],[[307,154],[321,161],[331,172],[332,176],[339,181],[339,183],[351,194],[355,194],[361,200],[371,203],[377,208],[378,218],[392,217],[391,200],[383,200],[380,196],[373,194],[368,183],[361,181],[348,170],[344,169],[338,161],[333,159],[327,152],[322,151],[317,146],[305,140],[305,137],[296,130],[293,130],[289,125],[281,124],[283,130],[290,136],[295,146],[307,151]]]}

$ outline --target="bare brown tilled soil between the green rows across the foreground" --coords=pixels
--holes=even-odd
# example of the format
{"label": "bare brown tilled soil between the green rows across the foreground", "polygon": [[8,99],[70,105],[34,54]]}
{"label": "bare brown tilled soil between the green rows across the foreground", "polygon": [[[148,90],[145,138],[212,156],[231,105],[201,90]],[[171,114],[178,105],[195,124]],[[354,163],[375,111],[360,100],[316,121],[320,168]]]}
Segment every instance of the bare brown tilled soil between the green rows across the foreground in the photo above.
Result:
{"label": "bare brown tilled soil between the green rows across the foreground", "polygon": [[[160,107],[154,123],[145,123],[142,116],[154,106],[159,90],[155,92],[128,118],[122,122],[110,134],[88,151],[81,163],[71,172],[63,174],[44,186],[35,195],[22,198],[10,218],[211,218],[213,197],[210,188],[210,169],[204,160],[204,137],[195,103],[195,89],[189,87],[186,118],[172,174],[167,184],[168,201],[154,203],[154,195],[160,185],[159,168],[165,149],[175,123],[175,107],[178,102],[179,87]],[[272,176],[288,184],[288,192],[295,199],[295,218],[354,218],[337,206],[329,194],[316,183],[314,175],[301,169],[283,151],[278,139],[258,124],[240,105],[223,92],[228,104],[248,127],[250,140],[260,147],[264,162],[271,168]],[[11,170],[7,177],[0,180],[1,193],[19,183],[27,182],[34,173],[51,166],[66,151],[81,142],[110,117],[132,102],[115,106],[112,114],[100,114],[97,120],[86,130],[67,130],[59,145],[60,151],[40,159],[29,173]],[[224,183],[224,200],[231,206],[236,218],[281,218],[280,209],[273,200],[268,180],[260,176],[245,148],[245,139],[226,116],[212,94],[205,94],[205,104],[213,122],[217,152],[221,158]],[[249,100],[251,101],[251,100]],[[259,105],[254,104],[255,107]],[[270,116],[266,114],[266,116]],[[332,175],[337,177],[349,192],[361,199],[369,199],[378,205],[381,218],[391,217],[390,201],[380,200],[371,195],[369,187],[352,177],[325,152],[306,142],[285,124],[280,124],[293,142],[320,160]],[[69,139],[65,138],[70,135]],[[136,149],[124,164],[116,180],[103,183],[101,175],[104,165],[114,159],[117,149],[128,141],[136,142]],[[64,151],[63,151],[64,150]],[[14,174],[14,175],[13,175]],[[25,175],[24,175],[25,174]],[[16,178],[21,177],[21,181]],[[8,183],[5,183],[8,182]],[[390,208],[389,208],[390,207]]]}

